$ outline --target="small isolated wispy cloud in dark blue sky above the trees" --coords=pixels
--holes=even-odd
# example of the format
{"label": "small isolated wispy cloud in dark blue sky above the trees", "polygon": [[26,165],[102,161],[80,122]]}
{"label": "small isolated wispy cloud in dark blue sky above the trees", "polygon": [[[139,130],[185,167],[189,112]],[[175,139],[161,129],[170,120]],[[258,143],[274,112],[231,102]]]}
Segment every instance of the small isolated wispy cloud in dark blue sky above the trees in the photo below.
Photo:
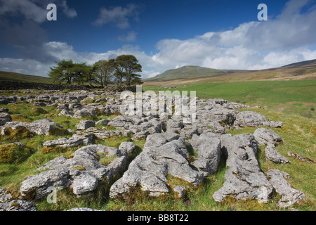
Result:
{"label": "small isolated wispy cloud in dark blue sky above the trees", "polygon": [[126,29],[130,26],[130,18],[138,20],[139,13],[140,7],[136,4],[128,4],[126,7],[101,8],[98,18],[93,22],[93,25],[113,24],[120,29]]}

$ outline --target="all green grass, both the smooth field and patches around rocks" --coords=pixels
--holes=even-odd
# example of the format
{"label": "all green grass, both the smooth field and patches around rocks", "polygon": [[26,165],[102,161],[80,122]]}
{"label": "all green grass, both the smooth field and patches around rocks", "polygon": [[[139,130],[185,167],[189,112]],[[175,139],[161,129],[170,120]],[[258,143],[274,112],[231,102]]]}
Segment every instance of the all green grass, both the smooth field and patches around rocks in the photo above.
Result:
{"label": "all green grass, both the smooth field and patches around rocks", "polygon": [[[315,164],[300,162],[287,156],[288,152],[297,153],[306,158],[316,160],[316,123],[315,109],[316,99],[315,90],[316,81],[299,81],[299,82],[231,82],[216,84],[199,84],[192,86],[183,86],[178,90],[197,91],[200,98],[225,98],[229,101],[238,101],[249,105],[267,105],[268,109],[263,108],[250,109],[254,110],[265,117],[275,121],[282,121],[282,128],[273,128],[277,134],[282,136],[284,143],[277,146],[279,153],[287,157],[291,163],[286,165],[277,165],[265,160],[264,147],[261,146],[258,153],[258,160],[263,172],[268,169],[280,169],[291,176],[289,181],[291,186],[303,191],[305,200],[297,203],[293,208],[302,211],[316,210],[316,167]],[[163,86],[143,86],[144,91],[158,91]],[[172,91],[173,89],[171,89]],[[53,122],[61,124],[65,128],[74,129],[79,123],[78,119],[71,117],[54,116],[57,112],[53,107],[43,107],[46,113],[32,112],[34,106],[29,103],[18,103],[9,105],[0,105],[0,108],[9,108],[9,112],[22,114],[24,116],[13,116],[13,120],[32,122],[34,120],[49,117]],[[249,109],[244,109],[249,110]],[[304,113],[305,112],[305,113]],[[306,113],[307,112],[307,113]],[[93,118],[97,121],[105,119],[107,116],[101,115]],[[253,133],[256,128],[246,127],[244,129],[227,129],[227,133],[232,135]],[[77,148],[68,148],[63,151],[44,153],[42,145],[45,141],[59,139],[60,137],[71,136],[70,134],[54,136],[33,136],[29,139],[18,137],[16,139],[4,139],[0,136],[0,145],[21,141],[32,151],[32,155],[25,161],[18,164],[0,164],[0,187],[7,188],[15,195],[18,195],[20,184],[25,180],[25,176],[37,174],[37,168],[53,158],[65,155],[66,157],[74,153]],[[122,136],[121,138],[112,138],[106,140],[95,140],[105,146],[118,147],[123,141],[130,141],[130,137]],[[137,151],[131,158],[136,157],[145,144],[145,139],[135,141]],[[280,198],[276,195],[268,204],[258,203],[256,200],[234,200],[228,198],[223,203],[216,203],[212,195],[225,182],[224,174],[228,168],[225,162],[221,160],[220,167],[216,174],[204,179],[202,185],[194,188],[188,184],[183,184],[174,177],[168,176],[167,179],[173,184],[179,184],[187,187],[185,198],[178,199],[171,193],[164,197],[150,198],[140,191],[136,191],[131,198],[126,201],[110,200],[108,192],[110,184],[100,182],[98,192],[93,198],[76,198],[72,191],[58,191],[57,204],[48,204],[46,199],[37,203],[37,210],[68,210],[72,207],[91,207],[99,210],[279,210],[277,202]],[[290,209],[284,209],[290,210]]]}

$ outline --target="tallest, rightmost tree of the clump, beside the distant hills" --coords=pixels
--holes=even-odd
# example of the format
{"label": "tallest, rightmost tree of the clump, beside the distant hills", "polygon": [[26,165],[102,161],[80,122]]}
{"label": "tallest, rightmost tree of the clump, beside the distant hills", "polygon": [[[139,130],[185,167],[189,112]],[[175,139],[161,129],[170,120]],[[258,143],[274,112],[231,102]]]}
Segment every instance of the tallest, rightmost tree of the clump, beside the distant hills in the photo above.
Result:
{"label": "tallest, rightmost tree of the clump, beside the distant hills", "polygon": [[[120,85],[122,85],[122,80],[126,79],[126,85],[131,85],[133,79],[140,77],[136,72],[142,72],[142,66],[138,63],[138,60],[133,55],[121,55],[117,56],[117,72],[116,77],[119,79]],[[138,81],[138,79],[136,79]]]}

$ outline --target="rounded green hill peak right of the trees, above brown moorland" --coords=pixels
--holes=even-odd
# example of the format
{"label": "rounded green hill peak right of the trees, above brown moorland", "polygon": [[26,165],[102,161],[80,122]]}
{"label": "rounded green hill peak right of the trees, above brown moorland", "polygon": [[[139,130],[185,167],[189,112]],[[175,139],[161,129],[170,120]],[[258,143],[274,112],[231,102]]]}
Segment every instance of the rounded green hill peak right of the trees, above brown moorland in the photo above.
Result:
{"label": "rounded green hill peak right of the trees, above brown moorland", "polygon": [[235,72],[244,72],[246,70],[216,70],[211,68],[202,68],[199,66],[186,65],[182,68],[167,70],[161,75],[145,79],[148,81],[154,80],[171,80],[171,79],[192,79],[195,77],[211,77],[216,75],[227,75]]}

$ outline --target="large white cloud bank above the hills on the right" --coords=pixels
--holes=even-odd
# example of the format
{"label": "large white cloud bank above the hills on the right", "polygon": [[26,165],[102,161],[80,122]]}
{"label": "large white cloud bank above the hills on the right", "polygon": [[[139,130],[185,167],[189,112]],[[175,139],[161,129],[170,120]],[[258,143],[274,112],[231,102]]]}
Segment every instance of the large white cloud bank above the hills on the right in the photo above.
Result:
{"label": "large white cloud bank above the hills on the right", "polygon": [[[274,68],[315,58],[316,8],[289,1],[275,19],[243,23],[232,30],[206,32],[192,39],[164,39],[152,60],[159,68],[201,65],[216,69]],[[158,67],[157,67],[158,68]]]}

